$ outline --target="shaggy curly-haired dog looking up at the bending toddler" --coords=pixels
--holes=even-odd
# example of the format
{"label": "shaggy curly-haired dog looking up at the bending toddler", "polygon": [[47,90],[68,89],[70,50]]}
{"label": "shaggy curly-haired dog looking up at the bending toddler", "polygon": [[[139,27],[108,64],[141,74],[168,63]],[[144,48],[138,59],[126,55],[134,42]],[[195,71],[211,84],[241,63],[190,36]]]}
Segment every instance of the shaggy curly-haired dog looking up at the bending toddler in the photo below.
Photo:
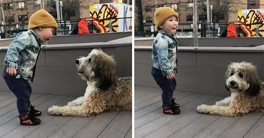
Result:
{"label": "shaggy curly-haired dog looking up at the bending toddler", "polygon": [[85,94],[66,106],[52,106],[49,114],[95,116],[109,110],[132,109],[132,78],[116,76],[116,62],[101,49],[76,60],[78,75],[87,82]]}

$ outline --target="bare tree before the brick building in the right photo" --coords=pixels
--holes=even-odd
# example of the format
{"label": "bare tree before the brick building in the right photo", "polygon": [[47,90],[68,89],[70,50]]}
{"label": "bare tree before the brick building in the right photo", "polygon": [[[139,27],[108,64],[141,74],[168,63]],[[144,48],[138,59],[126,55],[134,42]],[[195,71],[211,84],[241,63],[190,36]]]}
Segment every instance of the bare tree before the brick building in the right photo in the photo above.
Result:
{"label": "bare tree before the brick building in the right photo", "polygon": [[[225,17],[229,12],[237,13],[239,6],[242,4],[242,0],[209,0],[212,4],[212,22],[219,23],[222,17]],[[204,11],[207,10],[206,2],[201,3]]]}

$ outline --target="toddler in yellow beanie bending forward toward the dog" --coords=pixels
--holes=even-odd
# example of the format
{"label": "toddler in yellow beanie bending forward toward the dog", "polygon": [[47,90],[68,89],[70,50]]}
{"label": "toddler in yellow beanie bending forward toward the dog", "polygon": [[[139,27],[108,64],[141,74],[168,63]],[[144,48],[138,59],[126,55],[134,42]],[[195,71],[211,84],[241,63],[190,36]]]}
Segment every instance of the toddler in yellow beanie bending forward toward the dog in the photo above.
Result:
{"label": "toddler in yellow beanie bending forward toward the dog", "polygon": [[31,15],[28,31],[20,32],[10,43],[4,59],[3,78],[9,89],[16,96],[16,106],[21,125],[38,125],[41,120],[35,116],[41,111],[35,110],[30,103],[37,61],[42,53],[41,43],[51,39],[58,28],[56,20],[45,10]]}

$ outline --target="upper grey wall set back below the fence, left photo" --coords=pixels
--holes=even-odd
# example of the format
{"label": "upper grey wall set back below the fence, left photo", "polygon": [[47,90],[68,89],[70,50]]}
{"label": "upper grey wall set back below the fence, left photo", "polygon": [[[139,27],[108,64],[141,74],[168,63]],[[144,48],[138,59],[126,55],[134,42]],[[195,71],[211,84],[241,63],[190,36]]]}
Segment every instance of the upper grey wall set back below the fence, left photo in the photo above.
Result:
{"label": "upper grey wall set back below the fence, left photo", "polygon": [[[93,43],[93,42],[107,42],[123,37],[129,37],[132,32],[112,32],[112,33],[95,33],[87,35],[65,35],[54,36],[49,45],[54,44],[74,44],[74,43]],[[0,46],[8,46],[13,41],[13,38],[0,39]]]}

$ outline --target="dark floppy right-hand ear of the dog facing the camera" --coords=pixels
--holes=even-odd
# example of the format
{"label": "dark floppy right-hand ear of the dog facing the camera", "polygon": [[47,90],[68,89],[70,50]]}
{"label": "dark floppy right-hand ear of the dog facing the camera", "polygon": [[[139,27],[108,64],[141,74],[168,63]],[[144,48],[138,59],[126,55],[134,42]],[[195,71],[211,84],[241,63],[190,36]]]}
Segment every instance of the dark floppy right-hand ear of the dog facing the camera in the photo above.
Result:
{"label": "dark floppy right-hand ear of the dog facing the camera", "polygon": [[257,78],[252,78],[248,81],[249,87],[246,91],[250,96],[256,96],[260,91],[260,84]]}

